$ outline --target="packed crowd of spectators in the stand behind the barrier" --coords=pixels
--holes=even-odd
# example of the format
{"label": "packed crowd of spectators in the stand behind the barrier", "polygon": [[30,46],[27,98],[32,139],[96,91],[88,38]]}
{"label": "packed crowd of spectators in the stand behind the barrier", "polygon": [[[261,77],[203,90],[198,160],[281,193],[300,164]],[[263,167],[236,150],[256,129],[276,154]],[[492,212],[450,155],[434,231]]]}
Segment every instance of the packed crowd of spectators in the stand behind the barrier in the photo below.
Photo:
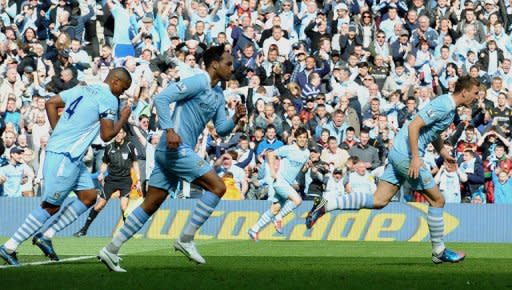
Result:
{"label": "packed crowd of spectators in the stand behind the barrier", "polygon": [[[208,126],[196,150],[223,176],[225,199],[266,199],[265,153],[299,127],[310,136],[295,184],[305,199],[375,190],[398,130],[469,74],[479,100],[442,136],[458,163],[433,146],[424,162],[447,202],[512,203],[511,30],[504,0],[0,0],[1,196],[40,192],[45,101],[117,66],[132,75],[125,131],[147,180],[161,134],[154,96],[223,44],[234,58],[226,111],[241,102],[248,117],[227,138]],[[84,157],[93,172],[106,145],[98,138]],[[182,183],[172,196],[190,192]],[[397,199],[424,201],[407,185]]]}

